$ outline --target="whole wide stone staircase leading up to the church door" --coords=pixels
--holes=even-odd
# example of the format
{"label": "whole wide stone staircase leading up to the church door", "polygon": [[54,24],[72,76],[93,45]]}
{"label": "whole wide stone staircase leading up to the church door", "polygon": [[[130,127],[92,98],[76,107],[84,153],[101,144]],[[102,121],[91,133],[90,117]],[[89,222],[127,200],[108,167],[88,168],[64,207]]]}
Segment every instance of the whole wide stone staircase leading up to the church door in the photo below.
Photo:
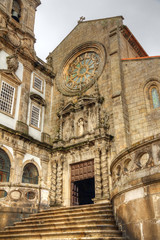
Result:
{"label": "whole wide stone staircase leading up to the church door", "polygon": [[43,210],[6,227],[0,232],[1,239],[125,240],[109,203]]}

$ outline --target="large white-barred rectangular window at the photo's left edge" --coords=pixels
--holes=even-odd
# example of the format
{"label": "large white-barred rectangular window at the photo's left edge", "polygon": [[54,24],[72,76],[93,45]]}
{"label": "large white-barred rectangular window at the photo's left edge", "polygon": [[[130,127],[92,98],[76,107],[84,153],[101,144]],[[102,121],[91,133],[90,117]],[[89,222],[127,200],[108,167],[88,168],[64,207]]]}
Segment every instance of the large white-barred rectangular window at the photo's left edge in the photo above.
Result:
{"label": "large white-barred rectangular window at the photo's left edge", "polygon": [[0,92],[0,110],[12,114],[15,88],[6,82],[2,82]]}

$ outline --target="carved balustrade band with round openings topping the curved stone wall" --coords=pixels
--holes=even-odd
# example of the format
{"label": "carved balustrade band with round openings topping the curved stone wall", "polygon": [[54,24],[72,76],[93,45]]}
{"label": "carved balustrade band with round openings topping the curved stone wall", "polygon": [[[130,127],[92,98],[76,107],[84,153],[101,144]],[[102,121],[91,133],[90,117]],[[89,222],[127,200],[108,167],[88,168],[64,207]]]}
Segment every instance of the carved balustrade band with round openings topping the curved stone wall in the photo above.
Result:
{"label": "carved balustrade band with round openings topping the curved stone wall", "polygon": [[123,151],[111,164],[112,198],[160,181],[160,137],[146,139]]}

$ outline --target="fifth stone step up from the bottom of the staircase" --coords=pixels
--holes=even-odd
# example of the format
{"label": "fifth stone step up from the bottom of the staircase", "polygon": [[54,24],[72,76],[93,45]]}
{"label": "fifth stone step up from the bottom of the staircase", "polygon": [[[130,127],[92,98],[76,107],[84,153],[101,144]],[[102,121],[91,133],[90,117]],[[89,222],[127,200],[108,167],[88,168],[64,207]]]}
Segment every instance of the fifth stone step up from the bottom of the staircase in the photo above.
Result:
{"label": "fifth stone step up from the bottom of the staircase", "polygon": [[72,213],[61,213],[61,212],[58,212],[58,213],[48,213],[46,214],[45,216],[41,216],[39,214],[37,214],[36,216],[31,216],[31,217],[28,217],[28,218],[24,218],[22,219],[22,221],[24,220],[34,220],[34,219],[46,219],[46,218],[49,218],[49,217],[55,217],[55,218],[58,218],[58,217],[68,217],[68,216],[88,216],[88,217],[95,217],[96,215],[99,215],[99,214],[113,214],[113,211],[112,210],[93,210],[93,211],[84,211],[84,212],[72,212]]}

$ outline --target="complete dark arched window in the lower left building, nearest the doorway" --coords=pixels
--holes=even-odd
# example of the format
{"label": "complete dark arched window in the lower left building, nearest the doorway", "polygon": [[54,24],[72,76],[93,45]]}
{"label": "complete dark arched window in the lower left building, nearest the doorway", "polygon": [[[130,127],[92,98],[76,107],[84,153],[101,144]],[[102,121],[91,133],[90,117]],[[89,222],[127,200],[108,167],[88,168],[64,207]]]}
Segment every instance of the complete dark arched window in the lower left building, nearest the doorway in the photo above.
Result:
{"label": "complete dark arched window in the lower left building, nearest the doorway", "polygon": [[26,164],[23,170],[22,182],[38,184],[38,170],[34,164]]}

